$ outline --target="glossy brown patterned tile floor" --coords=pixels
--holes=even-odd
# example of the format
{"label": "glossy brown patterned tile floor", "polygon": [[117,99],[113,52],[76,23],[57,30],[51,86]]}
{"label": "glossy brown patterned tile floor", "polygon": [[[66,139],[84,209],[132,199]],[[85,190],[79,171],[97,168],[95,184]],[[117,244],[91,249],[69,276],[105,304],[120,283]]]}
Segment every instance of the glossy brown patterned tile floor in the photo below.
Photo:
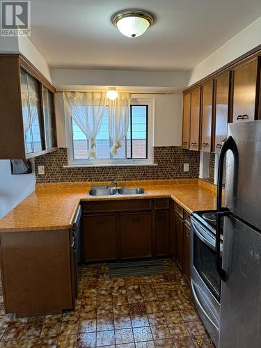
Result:
{"label": "glossy brown patterned tile floor", "polygon": [[1,303],[0,347],[214,347],[176,264],[161,262],[163,274],[113,279],[106,264],[82,265],[77,306],[63,315],[19,319]]}

